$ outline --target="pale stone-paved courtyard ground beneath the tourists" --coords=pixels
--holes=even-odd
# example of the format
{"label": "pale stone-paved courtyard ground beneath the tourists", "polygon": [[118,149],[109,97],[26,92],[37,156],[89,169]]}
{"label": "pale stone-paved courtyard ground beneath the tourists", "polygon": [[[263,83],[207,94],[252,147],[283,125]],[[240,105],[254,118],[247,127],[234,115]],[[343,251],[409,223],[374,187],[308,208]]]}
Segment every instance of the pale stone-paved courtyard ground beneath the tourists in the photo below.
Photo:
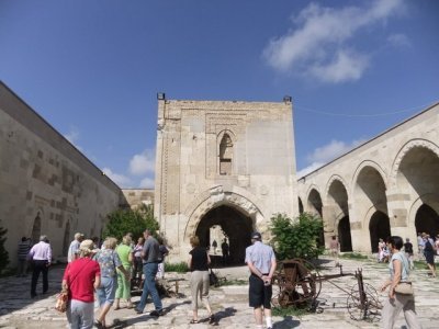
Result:
{"label": "pale stone-paved courtyard ground beneath the tourists", "polygon": [[[322,275],[339,273],[339,269],[334,266],[334,262],[323,259]],[[362,268],[364,282],[378,288],[385,277],[387,277],[386,264],[379,264],[372,261],[341,260],[345,273],[354,272]],[[246,266],[219,269],[219,276],[228,281],[236,282],[243,280],[247,282],[248,271]],[[49,272],[49,291],[46,295],[38,295],[31,299],[30,276],[27,277],[5,277],[0,279],[0,328],[66,328],[67,321],[64,314],[54,309],[56,293],[60,286],[63,268],[54,268]],[[149,317],[147,314],[136,315],[133,309],[122,308],[111,310],[108,316],[110,328],[210,328],[205,309],[200,310],[204,321],[199,325],[189,325],[191,319],[190,310],[190,290],[189,274],[167,273],[168,279],[184,279],[180,282],[180,296],[165,298],[164,306],[167,315],[158,319]],[[418,317],[424,328],[439,328],[436,310],[439,305],[438,279],[428,277],[426,270],[413,271],[412,280],[415,283],[416,307]],[[324,282],[319,295],[320,314],[305,314],[300,317],[286,316],[274,317],[274,328],[380,328],[379,317],[374,321],[356,321],[350,318],[347,311],[348,294],[334,286],[335,283],[344,290],[350,291],[356,285],[356,280],[351,276]],[[41,284],[41,283],[40,283]],[[38,286],[41,290],[41,286]],[[216,328],[236,329],[255,328],[252,309],[247,304],[247,290],[245,284],[224,285],[211,290],[211,302],[217,317]],[[383,300],[385,294],[378,293]],[[134,302],[138,296],[133,298]],[[122,304],[123,306],[123,304]],[[148,304],[145,311],[151,310]],[[396,328],[404,327],[404,318],[401,315]]]}

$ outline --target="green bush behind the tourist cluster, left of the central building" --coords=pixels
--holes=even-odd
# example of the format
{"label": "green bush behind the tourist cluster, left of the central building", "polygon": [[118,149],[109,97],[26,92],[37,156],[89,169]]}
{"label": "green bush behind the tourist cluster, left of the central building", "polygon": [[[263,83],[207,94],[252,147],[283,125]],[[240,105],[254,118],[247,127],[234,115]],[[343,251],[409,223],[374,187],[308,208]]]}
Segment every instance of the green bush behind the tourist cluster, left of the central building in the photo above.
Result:
{"label": "green bush behind the tourist cluster, left of the central building", "polygon": [[128,231],[137,239],[145,229],[149,229],[155,236],[159,225],[154,218],[153,206],[142,205],[136,209],[117,209],[108,215],[106,224],[102,238],[115,237],[119,240]]}

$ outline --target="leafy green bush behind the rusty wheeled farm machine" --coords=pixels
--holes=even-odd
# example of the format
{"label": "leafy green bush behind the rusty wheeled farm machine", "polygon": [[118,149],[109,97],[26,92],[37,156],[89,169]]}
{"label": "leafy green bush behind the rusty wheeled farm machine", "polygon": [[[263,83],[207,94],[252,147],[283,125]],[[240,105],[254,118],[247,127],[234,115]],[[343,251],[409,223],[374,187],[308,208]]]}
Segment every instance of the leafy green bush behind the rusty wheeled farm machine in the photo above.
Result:
{"label": "leafy green bush behind the rusty wheeled farm machine", "polygon": [[291,220],[286,215],[277,214],[271,218],[270,229],[279,260],[313,259],[324,251],[324,247],[319,247],[317,242],[323,222],[316,216],[303,213]]}

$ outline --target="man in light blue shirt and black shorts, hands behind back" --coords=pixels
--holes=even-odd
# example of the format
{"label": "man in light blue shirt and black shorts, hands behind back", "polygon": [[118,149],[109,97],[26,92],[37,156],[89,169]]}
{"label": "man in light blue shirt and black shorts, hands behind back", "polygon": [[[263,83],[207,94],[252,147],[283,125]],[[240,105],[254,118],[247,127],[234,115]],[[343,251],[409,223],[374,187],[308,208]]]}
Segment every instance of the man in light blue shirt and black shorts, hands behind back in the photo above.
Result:
{"label": "man in light blue shirt and black shorts, hands behind back", "polygon": [[[273,327],[271,319],[271,295],[277,261],[270,246],[262,243],[259,232],[251,235],[251,246],[246,249],[246,263],[250,270],[249,305],[254,307],[256,328],[262,329],[262,314],[266,317],[267,329]],[[263,311],[262,311],[263,308]]]}

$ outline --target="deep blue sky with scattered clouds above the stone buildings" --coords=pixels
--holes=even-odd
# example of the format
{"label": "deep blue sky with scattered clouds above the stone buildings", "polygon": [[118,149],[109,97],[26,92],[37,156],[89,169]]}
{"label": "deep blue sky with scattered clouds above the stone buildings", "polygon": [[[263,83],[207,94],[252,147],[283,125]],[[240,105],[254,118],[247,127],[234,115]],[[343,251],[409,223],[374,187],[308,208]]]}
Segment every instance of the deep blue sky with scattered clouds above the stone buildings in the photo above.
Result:
{"label": "deep blue sky with scattered clouds above the stone buildings", "polygon": [[0,79],[122,188],[156,93],[294,104],[304,173],[439,100],[439,1],[0,0]]}

